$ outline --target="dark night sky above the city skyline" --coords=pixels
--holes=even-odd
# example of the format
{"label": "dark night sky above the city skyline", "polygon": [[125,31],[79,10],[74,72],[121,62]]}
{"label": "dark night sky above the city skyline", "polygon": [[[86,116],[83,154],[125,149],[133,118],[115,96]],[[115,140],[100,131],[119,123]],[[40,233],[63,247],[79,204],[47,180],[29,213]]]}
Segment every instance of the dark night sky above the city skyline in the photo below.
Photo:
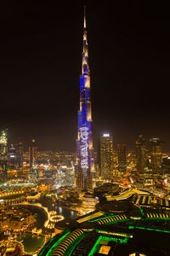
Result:
{"label": "dark night sky above the city skyline", "polygon": [[75,150],[86,4],[94,142],[108,131],[115,145],[134,148],[143,134],[169,151],[168,7],[60,2],[0,2],[0,129],[9,143],[27,149],[34,137],[42,150]]}

